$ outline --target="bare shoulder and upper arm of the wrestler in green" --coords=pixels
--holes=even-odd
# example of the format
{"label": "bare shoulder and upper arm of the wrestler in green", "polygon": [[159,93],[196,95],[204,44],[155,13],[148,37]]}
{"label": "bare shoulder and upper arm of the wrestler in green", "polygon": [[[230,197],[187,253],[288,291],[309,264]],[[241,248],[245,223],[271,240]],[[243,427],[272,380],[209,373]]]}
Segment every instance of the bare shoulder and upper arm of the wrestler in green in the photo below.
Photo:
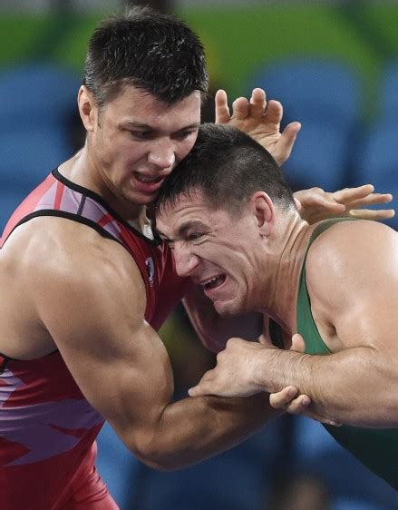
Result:
{"label": "bare shoulder and upper arm of the wrestler in green", "polygon": [[336,236],[327,239],[323,255],[324,260],[318,257],[322,278],[312,259],[315,271],[310,270],[309,289],[342,348],[391,352],[398,328],[396,233],[369,221],[341,225]]}

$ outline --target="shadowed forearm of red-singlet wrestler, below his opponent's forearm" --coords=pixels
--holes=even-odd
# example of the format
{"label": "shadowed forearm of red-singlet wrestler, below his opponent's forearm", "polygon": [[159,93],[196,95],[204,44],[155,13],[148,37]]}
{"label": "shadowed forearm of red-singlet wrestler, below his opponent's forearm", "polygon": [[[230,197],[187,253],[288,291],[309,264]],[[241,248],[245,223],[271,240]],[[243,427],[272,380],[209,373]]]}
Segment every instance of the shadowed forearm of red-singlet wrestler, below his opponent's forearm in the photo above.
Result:
{"label": "shadowed forearm of red-singlet wrestler, below his opponent's forearm", "polygon": [[164,408],[157,424],[147,428],[143,449],[134,453],[151,467],[180,469],[238,445],[278,415],[264,393],[184,398]]}

